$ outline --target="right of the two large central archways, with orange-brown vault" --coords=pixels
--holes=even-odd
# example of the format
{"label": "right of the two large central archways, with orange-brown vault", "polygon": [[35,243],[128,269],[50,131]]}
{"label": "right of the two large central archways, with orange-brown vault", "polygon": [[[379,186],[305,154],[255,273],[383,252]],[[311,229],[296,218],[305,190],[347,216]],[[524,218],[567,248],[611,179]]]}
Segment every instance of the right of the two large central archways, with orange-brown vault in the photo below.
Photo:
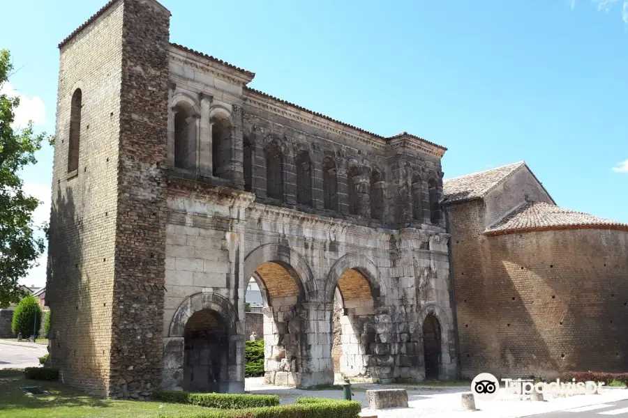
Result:
{"label": "right of the two large central archways, with orange-brown vault", "polygon": [[325,301],[334,307],[331,368],[343,377],[377,379],[377,371],[371,368],[377,365],[376,356],[390,354],[387,343],[392,341],[386,337],[382,341],[373,326],[380,295],[378,278],[377,267],[358,254],[338,259],[327,276]]}

